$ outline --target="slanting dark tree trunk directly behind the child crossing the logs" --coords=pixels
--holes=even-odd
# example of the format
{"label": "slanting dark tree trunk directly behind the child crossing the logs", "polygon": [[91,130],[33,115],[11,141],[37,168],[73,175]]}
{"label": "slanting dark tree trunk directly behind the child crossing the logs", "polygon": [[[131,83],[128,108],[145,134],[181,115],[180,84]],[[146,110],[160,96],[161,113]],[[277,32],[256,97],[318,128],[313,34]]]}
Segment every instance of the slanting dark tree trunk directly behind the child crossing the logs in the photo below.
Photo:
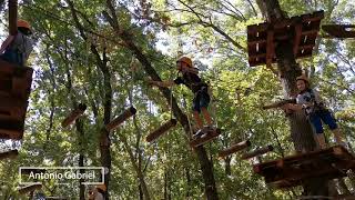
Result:
{"label": "slanting dark tree trunk directly behind the child crossing the logs", "polygon": [[[113,8],[111,0],[106,1],[106,6],[108,6],[112,17],[106,11],[103,11],[103,16],[108,20],[108,22],[111,24],[113,30],[115,31],[115,34],[118,36],[118,38],[120,38],[124,42],[125,48],[131,50],[132,53],[135,56],[135,58],[142,63],[143,69],[151,77],[151,79],[154,81],[161,81],[161,78],[159,77],[159,74],[156,73],[156,71],[154,70],[152,64],[150,63],[146,56],[134,43],[133,36],[131,36],[125,30],[121,29],[121,27],[118,22],[118,17],[115,14],[115,9]],[[173,111],[174,117],[182,124],[185,133],[189,136],[190,134],[190,126],[189,126],[187,117],[179,108],[179,106],[176,103],[176,99],[171,94],[171,90],[169,90],[168,88],[160,88],[160,91],[163,93],[164,98],[166,99],[166,102],[172,106],[171,109]],[[199,161],[201,164],[201,170],[203,173],[205,194],[209,200],[217,200],[219,196],[217,196],[217,190],[215,187],[213,164],[209,160],[207,152],[205,151],[205,148],[203,146],[200,146],[199,148],[196,148],[195,152],[197,154],[197,158],[199,158]]]}

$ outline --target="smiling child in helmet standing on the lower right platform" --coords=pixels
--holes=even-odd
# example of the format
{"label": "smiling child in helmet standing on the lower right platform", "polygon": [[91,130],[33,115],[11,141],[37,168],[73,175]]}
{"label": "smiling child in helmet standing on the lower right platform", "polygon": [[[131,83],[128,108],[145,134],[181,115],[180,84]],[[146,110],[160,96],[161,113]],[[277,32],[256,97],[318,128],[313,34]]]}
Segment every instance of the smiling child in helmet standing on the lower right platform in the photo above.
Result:
{"label": "smiling child in helmet standing on the lower right platform", "polygon": [[308,78],[305,74],[297,77],[296,84],[300,91],[296,98],[297,104],[287,104],[286,108],[292,110],[303,109],[305,111],[310,122],[315,129],[316,139],[321,149],[326,148],[322,121],[329,127],[334,133],[336,142],[345,146],[336,120],[332,116],[331,111],[325,108],[318,92],[310,88]]}

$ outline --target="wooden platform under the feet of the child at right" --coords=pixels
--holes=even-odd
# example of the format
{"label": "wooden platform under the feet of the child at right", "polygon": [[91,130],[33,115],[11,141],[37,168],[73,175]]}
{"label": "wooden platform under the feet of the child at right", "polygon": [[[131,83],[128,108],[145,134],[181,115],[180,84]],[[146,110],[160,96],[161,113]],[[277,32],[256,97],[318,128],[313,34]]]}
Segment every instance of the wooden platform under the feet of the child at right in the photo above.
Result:
{"label": "wooden platform under the feet of the child at right", "polygon": [[344,147],[334,146],[325,150],[288,156],[253,166],[254,172],[275,188],[300,186],[308,178],[335,179],[355,169],[355,156]]}

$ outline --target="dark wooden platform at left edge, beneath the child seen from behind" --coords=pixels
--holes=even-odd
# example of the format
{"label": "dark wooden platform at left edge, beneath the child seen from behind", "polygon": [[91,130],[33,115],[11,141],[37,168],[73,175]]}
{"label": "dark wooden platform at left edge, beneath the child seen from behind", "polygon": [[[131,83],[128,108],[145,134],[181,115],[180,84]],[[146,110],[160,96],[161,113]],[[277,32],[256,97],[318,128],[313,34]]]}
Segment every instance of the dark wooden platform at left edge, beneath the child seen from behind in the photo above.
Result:
{"label": "dark wooden platform at left edge, beneath the child seen from behind", "polygon": [[0,139],[22,139],[32,73],[0,59]]}

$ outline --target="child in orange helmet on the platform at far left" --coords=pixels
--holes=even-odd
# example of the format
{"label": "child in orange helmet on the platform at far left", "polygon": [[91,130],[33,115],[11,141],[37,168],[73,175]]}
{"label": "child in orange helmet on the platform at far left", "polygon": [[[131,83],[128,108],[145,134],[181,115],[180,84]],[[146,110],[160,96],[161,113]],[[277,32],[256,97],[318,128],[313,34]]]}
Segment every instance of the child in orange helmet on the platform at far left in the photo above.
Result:
{"label": "child in orange helmet on the platform at far left", "polygon": [[24,20],[18,20],[18,32],[9,36],[0,47],[0,58],[6,61],[24,66],[31,51],[33,50],[33,41],[30,38],[31,28]]}

